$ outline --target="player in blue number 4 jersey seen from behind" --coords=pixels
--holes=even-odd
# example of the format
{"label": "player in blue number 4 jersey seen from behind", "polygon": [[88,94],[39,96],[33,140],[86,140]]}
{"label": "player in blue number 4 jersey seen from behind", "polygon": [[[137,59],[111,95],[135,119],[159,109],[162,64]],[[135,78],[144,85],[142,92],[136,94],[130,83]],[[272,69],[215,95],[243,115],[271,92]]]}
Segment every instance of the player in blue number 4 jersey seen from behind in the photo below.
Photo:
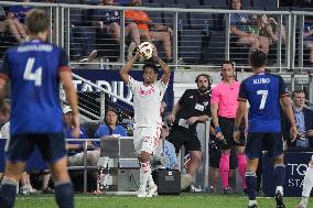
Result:
{"label": "player in blue number 4 jersey seen from behind", "polygon": [[58,207],[73,208],[74,193],[67,173],[67,152],[60,106],[63,83],[73,109],[73,136],[79,135],[77,96],[64,50],[46,43],[50,20],[45,11],[31,10],[25,20],[30,42],[9,48],[0,70],[1,99],[11,80],[10,139],[6,146],[6,173],[0,186],[2,208],[14,206],[18,182],[35,146],[50,163]]}

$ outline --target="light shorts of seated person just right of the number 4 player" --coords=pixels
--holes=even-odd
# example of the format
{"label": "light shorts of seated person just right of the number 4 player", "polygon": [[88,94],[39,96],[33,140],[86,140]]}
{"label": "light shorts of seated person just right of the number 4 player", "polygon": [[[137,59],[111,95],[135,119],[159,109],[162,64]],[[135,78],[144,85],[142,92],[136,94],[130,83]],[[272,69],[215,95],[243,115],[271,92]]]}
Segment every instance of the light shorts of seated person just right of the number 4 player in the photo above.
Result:
{"label": "light shorts of seated person just right of the number 4 player", "polygon": [[[100,156],[100,151],[87,151],[87,165],[96,165]],[[74,154],[67,157],[67,166],[83,166],[84,165],[84,152]]]}

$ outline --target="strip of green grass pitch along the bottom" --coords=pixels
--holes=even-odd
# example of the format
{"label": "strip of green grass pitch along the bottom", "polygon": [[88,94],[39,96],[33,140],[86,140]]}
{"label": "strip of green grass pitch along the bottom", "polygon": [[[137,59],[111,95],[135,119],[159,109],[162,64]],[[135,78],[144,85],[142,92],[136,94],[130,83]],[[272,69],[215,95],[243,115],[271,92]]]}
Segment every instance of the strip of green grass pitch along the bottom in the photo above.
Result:
{"label": "strip of green grass pitch along the bottom", "polygon": [[[276,201],[269,197],[258,197],[258,208],[274,208]],[[294,208],[299,197],[285,197],[288,208]],[[311,201],[313,204],[313,201]],[[204,193],[181,194],[137,198],[136,196],[75,195],[76,208],[246,208],[248,198],[244,195],[216,195]],[[1,206],[0,206],[1,207]],[[15,208],[56,208],[54,195],[19,196]]]}

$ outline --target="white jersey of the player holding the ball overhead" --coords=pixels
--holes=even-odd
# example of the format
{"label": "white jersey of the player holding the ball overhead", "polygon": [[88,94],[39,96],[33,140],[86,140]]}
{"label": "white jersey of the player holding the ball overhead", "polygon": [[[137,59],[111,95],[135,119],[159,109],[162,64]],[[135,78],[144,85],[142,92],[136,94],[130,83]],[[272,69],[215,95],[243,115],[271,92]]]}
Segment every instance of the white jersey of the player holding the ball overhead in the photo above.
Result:
{"label": "white jersey of the player holding the ball overhead", "polygon": [[129,76],[128,86],[133,94],[134,127],[155,127],[161,123],[161,101],[168,84],[156,80],[144,86],[142,81]]}

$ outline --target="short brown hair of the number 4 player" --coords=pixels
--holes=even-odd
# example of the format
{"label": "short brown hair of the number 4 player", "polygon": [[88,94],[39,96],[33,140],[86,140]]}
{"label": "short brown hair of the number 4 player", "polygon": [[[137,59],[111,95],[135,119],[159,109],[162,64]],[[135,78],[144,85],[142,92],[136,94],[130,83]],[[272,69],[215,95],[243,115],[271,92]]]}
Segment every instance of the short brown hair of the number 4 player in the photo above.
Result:
{"label": "short brown hair of the number 4 player", "polygon": [[32,9],[26,14],[25,24],[30,33],[37,34],[48,29],[50,19],[44,10]]}

